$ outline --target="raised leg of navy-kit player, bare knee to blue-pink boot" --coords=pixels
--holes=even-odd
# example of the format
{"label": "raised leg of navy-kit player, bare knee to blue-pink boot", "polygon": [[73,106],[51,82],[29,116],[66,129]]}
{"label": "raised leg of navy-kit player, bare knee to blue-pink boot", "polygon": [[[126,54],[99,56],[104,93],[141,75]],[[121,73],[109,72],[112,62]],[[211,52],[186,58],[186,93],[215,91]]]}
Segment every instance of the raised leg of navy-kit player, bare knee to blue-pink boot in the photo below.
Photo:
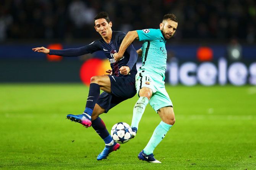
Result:
{"label": "raised leg of navy-kit player, bare knee to blue-pink boot", "polygon": [[99,98],[100,89],[108,93],[111,92],[111,83],[108,75],[93,76],[91,78],[89,94],[87,97],[86,108],[84,110],[84,113],[78,115],[68,114],[67,118],[71,121],[79,122],[85,127],[90,127],[92,124],[92,111],[94,110],[94,106]]}

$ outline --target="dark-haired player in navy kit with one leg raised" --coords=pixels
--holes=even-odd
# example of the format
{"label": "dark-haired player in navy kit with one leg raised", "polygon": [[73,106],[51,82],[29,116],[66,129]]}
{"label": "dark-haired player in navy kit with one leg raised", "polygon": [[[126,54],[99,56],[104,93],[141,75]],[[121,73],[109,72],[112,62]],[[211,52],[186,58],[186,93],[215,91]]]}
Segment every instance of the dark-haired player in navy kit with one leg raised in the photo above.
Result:
{"label": "dark-haired player in navy kit with one leg raised", "polygon": [[[107,113],[118,103],[133,97],[136,94],[135,75],[138,54],[131,44],[125,51],[122,59],[116,62],[113,54],[117,52],[125,33],[112,31],[112,22],[109,15],[101,12],[94,18],[95,29],[102,38],[81,48],[54,50],[44,47],[33,48],[33,51],[64,57],[81,56],[95,51],[103,51],[110,61],[109,75],[93,76],[89,87],[86,108],[83,114],[68,114],[71,121],[79,122],[85,127],[92,126],[105,142],[105,148],[97,156],[97,160],[105,159],[112,151],[120,148],[120,144],[113,141],[106,126],[99,115]],[[100,89],[103,90],[100,94]],[[136,129],[134,129],[136,130]]]}

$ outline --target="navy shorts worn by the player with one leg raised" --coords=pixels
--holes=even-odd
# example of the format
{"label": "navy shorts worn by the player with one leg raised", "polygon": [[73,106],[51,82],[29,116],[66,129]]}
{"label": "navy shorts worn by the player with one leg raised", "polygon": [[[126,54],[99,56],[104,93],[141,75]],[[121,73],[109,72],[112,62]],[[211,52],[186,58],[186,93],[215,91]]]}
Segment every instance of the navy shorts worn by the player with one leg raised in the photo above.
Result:
{"label": "navy shorts worn by the player with one leg raised", "polygon": [[136,94],[135,78],[108,76],[110,78],[112,93],[102,92],[97,101],[97,104],[105,109],[105,113]]}

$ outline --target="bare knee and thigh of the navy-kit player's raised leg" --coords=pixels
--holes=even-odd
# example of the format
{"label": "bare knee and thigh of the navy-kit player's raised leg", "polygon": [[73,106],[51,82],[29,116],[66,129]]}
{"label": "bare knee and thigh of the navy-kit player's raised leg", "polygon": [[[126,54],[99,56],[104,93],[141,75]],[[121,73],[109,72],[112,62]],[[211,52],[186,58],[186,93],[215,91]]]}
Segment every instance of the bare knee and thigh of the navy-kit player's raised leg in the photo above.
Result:
{"label": "bare knee and thigh of the navy-kit player's raised leg", "polygon": [[99,84],[101,90],[108,93],[111,92],[111,82],[108,75],[93,76],[91,78],[91,83],[97,83]]}

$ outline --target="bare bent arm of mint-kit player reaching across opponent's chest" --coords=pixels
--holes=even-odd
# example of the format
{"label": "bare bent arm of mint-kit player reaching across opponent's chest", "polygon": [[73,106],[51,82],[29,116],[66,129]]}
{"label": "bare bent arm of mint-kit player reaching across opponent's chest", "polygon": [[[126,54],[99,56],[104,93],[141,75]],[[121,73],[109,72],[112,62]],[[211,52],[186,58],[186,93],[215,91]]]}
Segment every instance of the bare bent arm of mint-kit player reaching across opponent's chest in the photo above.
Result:
{"label": "bare bent arm of mint-kit player reaching across opponent's chest", "polygon": [[137,31],[129,31],[126,34],[120,45],[119,51],[114,54],[115,61],[119,61],[123,57],[123,54],[125,54],[125,50],[135,39],[139,39]]}

